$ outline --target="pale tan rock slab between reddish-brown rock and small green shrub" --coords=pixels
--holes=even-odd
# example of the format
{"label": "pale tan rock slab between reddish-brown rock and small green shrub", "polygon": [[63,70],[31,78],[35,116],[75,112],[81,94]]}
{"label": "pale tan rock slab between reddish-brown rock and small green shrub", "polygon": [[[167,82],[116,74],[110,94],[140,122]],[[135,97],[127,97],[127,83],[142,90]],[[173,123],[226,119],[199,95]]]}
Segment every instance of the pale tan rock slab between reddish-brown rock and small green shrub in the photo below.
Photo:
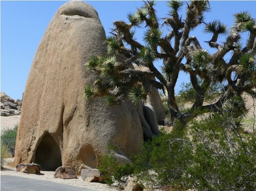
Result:
{"label": "pale tan rock slab between reddish-brown rock and small green shrub", "polygon": [[100,175],[98,169],[82,169],[81,177],[85,182],[101,182],[105,181],[105,178]]}

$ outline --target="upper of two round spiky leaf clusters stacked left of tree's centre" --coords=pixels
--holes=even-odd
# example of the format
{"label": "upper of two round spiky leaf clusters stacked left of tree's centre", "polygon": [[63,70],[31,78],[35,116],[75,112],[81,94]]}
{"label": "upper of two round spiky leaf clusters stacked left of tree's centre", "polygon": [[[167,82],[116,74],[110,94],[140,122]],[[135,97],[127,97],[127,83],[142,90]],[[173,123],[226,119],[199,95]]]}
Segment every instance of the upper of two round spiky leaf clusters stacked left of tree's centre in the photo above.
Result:
{"label": "upper of two round spiky leaf clusters stacked left of tree's centre", "polygon": [[160,43],[162,31],[159,29],[148,29],[144,33],[144,40],[152,47],[157,46]]}

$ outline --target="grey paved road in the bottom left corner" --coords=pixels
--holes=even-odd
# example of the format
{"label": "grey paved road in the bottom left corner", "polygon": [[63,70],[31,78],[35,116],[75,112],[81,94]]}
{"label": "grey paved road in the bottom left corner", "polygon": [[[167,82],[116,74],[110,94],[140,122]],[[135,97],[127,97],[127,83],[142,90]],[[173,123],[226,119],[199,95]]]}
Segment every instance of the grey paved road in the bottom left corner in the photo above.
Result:
{"label": "grey paved road in the bottom left corner", "polygon": [[1,175],[1,191],[93,191],[50,181]]}

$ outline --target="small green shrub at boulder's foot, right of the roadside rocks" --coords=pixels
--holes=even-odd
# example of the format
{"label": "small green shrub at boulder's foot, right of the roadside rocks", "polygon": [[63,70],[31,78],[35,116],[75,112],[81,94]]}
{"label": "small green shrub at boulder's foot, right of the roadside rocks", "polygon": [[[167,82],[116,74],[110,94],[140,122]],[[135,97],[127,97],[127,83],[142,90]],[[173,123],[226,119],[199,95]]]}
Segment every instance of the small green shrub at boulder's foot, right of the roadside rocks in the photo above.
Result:
{"label": "small green shrub at boulder's foot, right of the roadside rocks", "polygon": [[117,181],[126,182],[128,175],[133,173],[133,167],[129,163],[120,165],[115,158],[116,148],[108,147],[106,153],[100,158],[99,172],[105,177],[107,184]]}

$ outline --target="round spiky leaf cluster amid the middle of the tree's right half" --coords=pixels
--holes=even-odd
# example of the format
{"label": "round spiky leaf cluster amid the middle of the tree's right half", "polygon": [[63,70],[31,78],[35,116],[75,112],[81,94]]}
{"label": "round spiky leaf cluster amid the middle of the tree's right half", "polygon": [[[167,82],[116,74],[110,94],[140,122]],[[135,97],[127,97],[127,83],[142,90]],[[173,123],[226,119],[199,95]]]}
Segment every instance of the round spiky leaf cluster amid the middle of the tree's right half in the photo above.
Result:
{"label": "round spiky leaf cluster amid the middle of the tree's right half", "polygon": [[206,50],[196,50],[192,53],[193,65],[195,68],[205,69],[210,62],[211,55]]}

